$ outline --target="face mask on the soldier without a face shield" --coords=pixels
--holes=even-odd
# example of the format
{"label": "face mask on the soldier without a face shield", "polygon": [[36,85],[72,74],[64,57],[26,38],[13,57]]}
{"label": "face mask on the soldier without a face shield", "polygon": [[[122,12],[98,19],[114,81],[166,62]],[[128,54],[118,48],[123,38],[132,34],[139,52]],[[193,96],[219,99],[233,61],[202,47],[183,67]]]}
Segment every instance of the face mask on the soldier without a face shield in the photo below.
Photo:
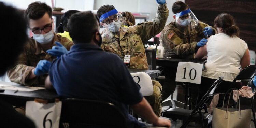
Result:
{"label": "face mask on the soldier without a face shield", "polygon": [[46,33],[44,35],[43,34],[34,34],[33,33],[33,39],[35,39],[40,44],[50,43],[53,38],[54,38],[53,31],[49,31],[48,33]]}

